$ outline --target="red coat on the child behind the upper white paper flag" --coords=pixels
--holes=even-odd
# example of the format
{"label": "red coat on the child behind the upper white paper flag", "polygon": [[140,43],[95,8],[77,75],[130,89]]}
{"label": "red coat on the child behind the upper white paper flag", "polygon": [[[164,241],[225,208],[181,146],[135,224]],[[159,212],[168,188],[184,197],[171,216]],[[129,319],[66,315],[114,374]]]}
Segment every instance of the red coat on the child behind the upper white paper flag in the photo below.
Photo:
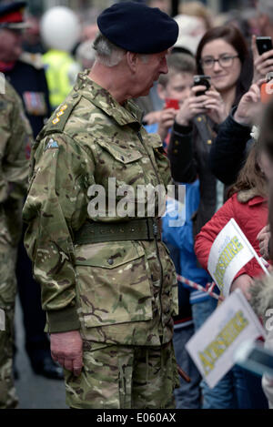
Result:
{"label": "red coat on the child behind the upper white paper flag", "polygon": [[[253,192],[252,192],[253,194]],[[238,201],[248,200],[245,203]],[[217,210],[217,213],[210,219],[197,235],[195,251],[197,259],[204,269],[207,269],[207,261],[210,248],[217,238],[217,234],[225,227],[229,219],[234,218],[238,226],[245,233],[253,248],[260,257],[257,235],[268,223],[268,199],[260,196],[252,196],[251,190],[240,191],[228,198],[227,202]],[[256,259],[250,259],[242,269],[238,271],[235,279],[241,274],[248,274],[250,277],[258,277],[264,274]]]}

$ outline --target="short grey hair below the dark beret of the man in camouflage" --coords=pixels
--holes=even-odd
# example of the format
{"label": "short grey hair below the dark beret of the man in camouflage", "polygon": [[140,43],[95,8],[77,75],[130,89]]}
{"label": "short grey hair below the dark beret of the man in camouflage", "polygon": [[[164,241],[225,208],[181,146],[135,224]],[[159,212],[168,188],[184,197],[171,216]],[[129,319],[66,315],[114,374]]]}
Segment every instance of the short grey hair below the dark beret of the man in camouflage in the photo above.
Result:
{"label": "short grey hair below the dark beret of the man in camouflage", "polygon": [[117,66],[126,54],[126,50],[111,43],[104,35],[98,33],[93,47],[96,50],[96,60],[104,66]]}

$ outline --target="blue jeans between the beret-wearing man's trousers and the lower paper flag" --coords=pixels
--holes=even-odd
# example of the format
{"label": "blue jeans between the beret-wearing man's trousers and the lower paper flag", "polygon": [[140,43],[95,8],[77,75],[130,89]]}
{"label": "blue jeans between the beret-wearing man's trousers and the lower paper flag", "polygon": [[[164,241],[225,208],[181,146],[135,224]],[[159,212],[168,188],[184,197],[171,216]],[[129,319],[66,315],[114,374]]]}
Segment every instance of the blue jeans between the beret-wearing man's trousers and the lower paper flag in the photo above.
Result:
{"label": "blue jeans between the beret-wearing man's trousers and the lower paper flag", "polygon": [[201,407],[200,381],[202,377],[185,349],[187,341],[192,337],[194,332],[194,325],[191,324],[175,330],[174,333],[173,342],[177,363],[191,380],[190,382],[186,382],[183,378],[180,378],[180,387],[175,390],[177,409],[200,409]]}

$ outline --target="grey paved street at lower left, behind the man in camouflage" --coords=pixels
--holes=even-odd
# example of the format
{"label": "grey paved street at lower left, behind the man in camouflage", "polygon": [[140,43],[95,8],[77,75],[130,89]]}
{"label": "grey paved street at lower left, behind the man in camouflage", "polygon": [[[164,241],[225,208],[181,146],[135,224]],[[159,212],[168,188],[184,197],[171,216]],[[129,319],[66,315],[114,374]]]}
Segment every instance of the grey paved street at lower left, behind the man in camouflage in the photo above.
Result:
{"label": "grey paved street at lower left, behind the man in camouflage", "polygon": [[19,371],[19,380],[15,381],[19,397],[20,409],[65,409],[64,381],[47,380],[35,375],[24,349],[24,329],[20,303],[16,300],[15,328],[16,328],[16,366]]}

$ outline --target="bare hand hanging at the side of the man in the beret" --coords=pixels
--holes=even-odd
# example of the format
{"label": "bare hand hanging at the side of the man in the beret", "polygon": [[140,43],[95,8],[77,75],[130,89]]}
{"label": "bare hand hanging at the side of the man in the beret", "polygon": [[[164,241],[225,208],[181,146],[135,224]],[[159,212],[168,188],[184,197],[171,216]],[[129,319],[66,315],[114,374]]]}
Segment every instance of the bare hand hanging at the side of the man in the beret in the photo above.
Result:
{"label": "bare hand hanging at the side of the man in the beret", "polygon": [[51,333],[50,342],[52,359],[78,376],[83,367],[83,340],[79,331]]}

